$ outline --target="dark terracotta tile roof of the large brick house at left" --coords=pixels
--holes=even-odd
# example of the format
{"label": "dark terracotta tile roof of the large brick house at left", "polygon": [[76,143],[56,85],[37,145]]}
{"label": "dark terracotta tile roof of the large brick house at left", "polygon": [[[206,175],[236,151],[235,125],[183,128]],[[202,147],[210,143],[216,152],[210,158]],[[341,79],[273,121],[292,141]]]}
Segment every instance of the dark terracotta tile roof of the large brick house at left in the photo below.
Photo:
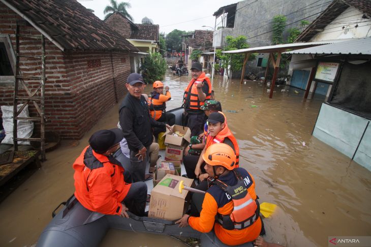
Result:
{"label": "dark terracotta tile roof of the large brick house at left", "polygon": [[2,0],[66,50],[139,50],[75,0]]}

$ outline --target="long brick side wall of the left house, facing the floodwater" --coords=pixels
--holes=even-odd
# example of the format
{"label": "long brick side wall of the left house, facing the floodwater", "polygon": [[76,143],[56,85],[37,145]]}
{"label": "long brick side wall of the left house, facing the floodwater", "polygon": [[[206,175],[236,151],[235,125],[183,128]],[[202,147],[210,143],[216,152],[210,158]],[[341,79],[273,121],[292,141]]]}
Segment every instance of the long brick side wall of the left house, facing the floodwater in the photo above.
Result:
{"label": "long brick side wall of the left house, facing the floodwater", "polygon": [[[88,67],[91,61],[100,66]],[[130,74],[130,58],[123,52],[73,52],[66,53],[65,62],[73,97],[70,104],[76,113],[74,122],[66,125],[75,123],[80,131],[67,137],[80,138],[126,93],[124,84]]]}

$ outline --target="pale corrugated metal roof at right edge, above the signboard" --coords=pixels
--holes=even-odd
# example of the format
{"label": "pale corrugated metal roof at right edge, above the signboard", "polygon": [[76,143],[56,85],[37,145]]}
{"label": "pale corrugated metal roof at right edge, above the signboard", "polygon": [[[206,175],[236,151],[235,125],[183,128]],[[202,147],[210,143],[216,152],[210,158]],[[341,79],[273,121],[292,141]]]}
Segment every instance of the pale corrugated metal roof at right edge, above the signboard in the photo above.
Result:
{"label": "pale corrugated metal roof at right edge, above the signboard", "polygon": [[285,52],[286,54],[363,54],[371,55],[371,37]]}

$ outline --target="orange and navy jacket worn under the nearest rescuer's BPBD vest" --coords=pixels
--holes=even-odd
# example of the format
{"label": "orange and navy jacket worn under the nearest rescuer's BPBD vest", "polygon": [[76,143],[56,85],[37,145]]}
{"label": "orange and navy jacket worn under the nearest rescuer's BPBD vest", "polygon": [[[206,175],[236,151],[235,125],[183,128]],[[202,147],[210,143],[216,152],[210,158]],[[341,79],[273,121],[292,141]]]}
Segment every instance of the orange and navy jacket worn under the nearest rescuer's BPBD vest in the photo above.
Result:
{"label": "orange and navy jacket worn under the nearest rescuer's BPBD vest", "polygon": [[[243,168],[235,168],[244,179],[248,193],[255,200],[255,180],[248,171]],[[248,175],[249,174],[249,175]],[[223,183],[235,185],[237,179],[233,172],[229,172],[223,177],[219,177]],[[219,223],[215,222],[217,213],[221,215],[230,215],[233,210],[233,202],[229,199],[226,193],[217,185],[212,185],[207,189],[205,198],[202,203],[200,217],[189,217],[189,225],[200,232],[210,232],[214,227],[215,235],[223,243],[227,245],[238,245],[246,242],[254,241],[260,234],[262,223],[260,217],[248,228],[242,230],[226,230]]]}

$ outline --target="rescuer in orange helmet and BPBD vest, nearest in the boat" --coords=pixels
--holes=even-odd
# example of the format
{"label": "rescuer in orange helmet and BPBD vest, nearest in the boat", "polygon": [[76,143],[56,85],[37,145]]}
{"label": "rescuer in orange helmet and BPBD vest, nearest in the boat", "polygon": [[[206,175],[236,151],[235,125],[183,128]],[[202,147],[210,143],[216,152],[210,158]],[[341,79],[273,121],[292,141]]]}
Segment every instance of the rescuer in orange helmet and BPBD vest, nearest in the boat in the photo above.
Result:
{"label": "rescuer in orange helmet and BPBD vest, nearest in the boat", "polygon": [[210,146],[202,158],[210,178],[202,204],[194,200],[200,194],[193,194],[192,203],[196,203],[200,215],[184,215],[175,223],[203,233],[213,229],[217,238],[211,233],[206,239],[215,246],[218,241],[227,245],[254,241],[262,230],[254,178],[245,169],[235,167],[236,156],[227,144]]}

